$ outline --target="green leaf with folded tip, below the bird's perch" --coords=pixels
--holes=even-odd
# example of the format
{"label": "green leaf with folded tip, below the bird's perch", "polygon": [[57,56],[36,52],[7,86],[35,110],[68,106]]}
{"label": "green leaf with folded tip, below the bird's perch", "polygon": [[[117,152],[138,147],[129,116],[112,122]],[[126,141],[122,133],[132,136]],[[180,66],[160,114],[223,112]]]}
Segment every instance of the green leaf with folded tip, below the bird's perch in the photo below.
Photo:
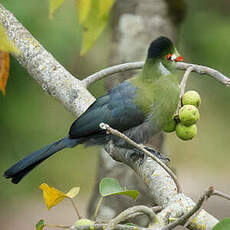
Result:
{"label": "green leaf with folded tip, below the bird's perch", "polygon": [[125,195],[137,199],[139,192],[137,190],[124,190],[117,179],[114,178],[104,178],[100,183],[100,194],[105,196],[110,195]]}

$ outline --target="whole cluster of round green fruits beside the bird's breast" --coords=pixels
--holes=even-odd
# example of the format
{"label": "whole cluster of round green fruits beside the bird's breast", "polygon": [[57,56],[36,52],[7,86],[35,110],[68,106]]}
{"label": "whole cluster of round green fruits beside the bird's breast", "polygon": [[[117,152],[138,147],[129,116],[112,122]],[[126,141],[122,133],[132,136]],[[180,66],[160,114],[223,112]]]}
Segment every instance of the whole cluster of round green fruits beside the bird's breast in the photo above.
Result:
{"label": "whole cluster of round green fruits beside the bird's breast", "polygon": [[182,98],[182,107],[179,110],[178,122],[174,117],[168,121],[163,130],[173,132],[182,140],[191,140],[197,134],[196,122],[200,114],[198,107],[201,104],[200,95],[196,91],[187,91]]}

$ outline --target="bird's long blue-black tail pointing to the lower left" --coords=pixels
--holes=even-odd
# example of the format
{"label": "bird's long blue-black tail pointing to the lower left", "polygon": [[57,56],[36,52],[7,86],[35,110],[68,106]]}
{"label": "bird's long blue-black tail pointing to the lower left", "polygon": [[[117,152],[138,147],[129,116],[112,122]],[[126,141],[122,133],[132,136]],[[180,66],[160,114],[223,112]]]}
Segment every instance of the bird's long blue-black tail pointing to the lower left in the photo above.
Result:
{"label": "bird's long blue-black tail pointing to the lower left", "polygon": [[4,173],[4,177],[12,178],[12,183],[17,184],[25,175],[27,175],[37,165],[41,164],[54,153],[64,148],[72,148],[77,144],[79,144],[79,140],[65,137],[52,144],[46,145],[36,152],[24,157],[22,160],[18,161],[16,164],[7,169]]}

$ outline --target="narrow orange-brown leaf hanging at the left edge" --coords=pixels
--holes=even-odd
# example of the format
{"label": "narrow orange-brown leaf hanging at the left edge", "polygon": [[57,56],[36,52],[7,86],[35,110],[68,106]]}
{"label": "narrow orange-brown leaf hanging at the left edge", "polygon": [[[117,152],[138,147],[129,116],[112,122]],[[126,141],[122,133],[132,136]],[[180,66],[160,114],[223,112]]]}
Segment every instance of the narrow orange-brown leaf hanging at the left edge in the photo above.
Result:
{"label": "narrow orange-brown leaf hanging at the left edge", "polygon": [[8,52],[0,51],[0,90],[6,94],[6,84],[9,76],[10,57]]}

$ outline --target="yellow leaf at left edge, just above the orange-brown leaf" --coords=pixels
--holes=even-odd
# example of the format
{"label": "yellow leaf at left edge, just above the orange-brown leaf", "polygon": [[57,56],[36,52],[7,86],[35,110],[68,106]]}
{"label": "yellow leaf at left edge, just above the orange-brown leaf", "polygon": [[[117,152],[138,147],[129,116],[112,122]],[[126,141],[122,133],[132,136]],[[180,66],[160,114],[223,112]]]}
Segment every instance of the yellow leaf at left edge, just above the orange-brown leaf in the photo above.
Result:
{"label": "yellow leaf at left edge, just above the orange-brown leaf", "polygon": [[4,52],[19,53],[14,43],[8,38],[5,29],[0,24],[0,50]]}

